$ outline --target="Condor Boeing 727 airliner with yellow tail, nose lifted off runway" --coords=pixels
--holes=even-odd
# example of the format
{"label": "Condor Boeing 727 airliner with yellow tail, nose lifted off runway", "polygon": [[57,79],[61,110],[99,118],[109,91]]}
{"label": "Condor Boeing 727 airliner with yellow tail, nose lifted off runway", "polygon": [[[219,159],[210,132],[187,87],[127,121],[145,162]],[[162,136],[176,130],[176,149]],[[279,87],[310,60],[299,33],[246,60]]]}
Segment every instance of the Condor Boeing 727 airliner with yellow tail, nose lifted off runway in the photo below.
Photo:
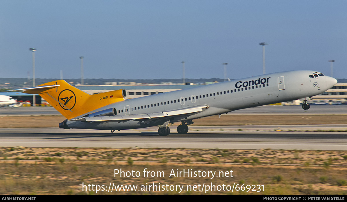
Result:
{"label": "Condor Boeing 727 airliner with yellow tail, nose lifted off runway", "polygon": [[[238,109],[301,99],[303,109],[311,96],[330,89],[335,78],[310,70],[235,79],[216,84],[124,100],[125,90],[90,95],[64,80],[25,90],[39,94],[67,119],[60,128],[114,131],[158,126],[158,133],[170,133],[169,124],[181,122],[179,134],[188,132],[194,119],[220,115]],[[16,90],[16,91],[19,91]]]}

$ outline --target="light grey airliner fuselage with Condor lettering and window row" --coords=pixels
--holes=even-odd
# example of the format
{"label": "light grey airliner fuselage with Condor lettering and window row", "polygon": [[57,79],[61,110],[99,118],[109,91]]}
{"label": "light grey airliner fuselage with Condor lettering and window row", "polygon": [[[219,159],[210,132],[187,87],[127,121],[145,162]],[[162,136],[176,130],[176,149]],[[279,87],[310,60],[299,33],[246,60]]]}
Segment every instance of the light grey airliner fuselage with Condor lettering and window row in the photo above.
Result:
{"label": "light grey airliner fuselage with Condor lettering and window row", "polygon": [[[317,77],[310,77],[316,74]],[[149,126],[158,126],[167,121],[197,119],[206,116],[228,113],[230,111],[292,101],[318,95],[330,89],[337,83],[335,78],[318,76],[315,71],[297,70],[280,73],[265,74],[243,79],[235,79],[216,84],[192,87],[189,89],[160,93],[141,98],[128,99],[104,106],[89,113],[115,108],[117,116],[136,115],[153,112],[162,112],[194,107],[209,106],[207,109],[193,115],[181,115],[160,119],[159,121],[67,121],[69,128],[88,129],[134,129]],[[88,114],[89,114],[88,113]],[[79,117],[86,116],[87,114]],[[77,117],[78,118],[78,117]]]}

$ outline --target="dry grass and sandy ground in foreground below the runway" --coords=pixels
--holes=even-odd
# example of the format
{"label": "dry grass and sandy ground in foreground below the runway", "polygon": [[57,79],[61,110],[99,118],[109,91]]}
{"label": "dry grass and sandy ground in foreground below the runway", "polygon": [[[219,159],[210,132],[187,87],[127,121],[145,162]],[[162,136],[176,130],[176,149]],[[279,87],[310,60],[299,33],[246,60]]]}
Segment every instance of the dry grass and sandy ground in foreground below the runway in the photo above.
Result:
{"label": "dry grass and sandy ground in foreground below the runway", "polygon": [[[303,150],[0,148],[0,194],[203,195],[199,191],[82,191],[81,184],[264,185],[229,195],[346,195],[347,153]],[[143,170],[164,177],[143,177]],[[114,177],[114,169],[141,177]],[[230,171],[234,177],[169,177],[171,170]],[[147,183],[147,184],[146,184]]]}

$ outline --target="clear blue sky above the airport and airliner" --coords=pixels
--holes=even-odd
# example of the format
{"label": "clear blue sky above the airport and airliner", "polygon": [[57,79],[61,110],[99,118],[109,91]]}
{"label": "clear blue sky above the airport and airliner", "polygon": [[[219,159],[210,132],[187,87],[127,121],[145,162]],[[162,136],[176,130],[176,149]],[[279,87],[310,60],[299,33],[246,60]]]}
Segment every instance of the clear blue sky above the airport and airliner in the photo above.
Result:
{"label": "clear blue sky above the airport and airliner", "polygon": [[347,1],[0,0],[0,77],[154,79],[310,69],[347,78]]}

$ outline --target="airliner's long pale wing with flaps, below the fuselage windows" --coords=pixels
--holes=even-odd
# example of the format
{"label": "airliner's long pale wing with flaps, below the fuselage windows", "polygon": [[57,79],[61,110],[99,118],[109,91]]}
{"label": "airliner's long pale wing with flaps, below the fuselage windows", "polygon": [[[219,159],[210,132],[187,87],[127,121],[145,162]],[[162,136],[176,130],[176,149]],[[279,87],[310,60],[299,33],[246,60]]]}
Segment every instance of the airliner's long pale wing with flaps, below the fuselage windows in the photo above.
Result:
{"label": "airliner's long pale wing with flaps, below the fuselage windows", "polygon": [[122,115],[122,116],[102,116],[102,117],[82,117],[71,120],[85,120],[87,122],[91,121],[118,121],[126,122],[129,120],[138,120],[138,121],[152,121],[156,119],[168,119],[168,118],[179,118],[179,117],[187,117],[189,115],[200,113],[203,110],[209,108],[208,105],[202,104],[194,107],[187,107],[177,110],[170,111],[162,111],[162,112],[154,112],[154,113],[142,113],[142,114],[134,114],[134,115]]}

